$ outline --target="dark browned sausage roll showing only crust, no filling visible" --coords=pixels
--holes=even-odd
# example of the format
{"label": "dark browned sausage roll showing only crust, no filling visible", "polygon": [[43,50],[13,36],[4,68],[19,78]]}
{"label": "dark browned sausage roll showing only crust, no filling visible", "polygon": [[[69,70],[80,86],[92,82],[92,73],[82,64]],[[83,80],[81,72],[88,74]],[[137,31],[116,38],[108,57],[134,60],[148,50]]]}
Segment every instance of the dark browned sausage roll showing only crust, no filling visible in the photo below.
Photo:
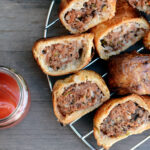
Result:
{"label": "dark browned sausage roll showing only crust, no filling visible", "polygon": [[150,54],[137,52],[113,56],[108,62],[108,82],[120,95],[150,94]]}

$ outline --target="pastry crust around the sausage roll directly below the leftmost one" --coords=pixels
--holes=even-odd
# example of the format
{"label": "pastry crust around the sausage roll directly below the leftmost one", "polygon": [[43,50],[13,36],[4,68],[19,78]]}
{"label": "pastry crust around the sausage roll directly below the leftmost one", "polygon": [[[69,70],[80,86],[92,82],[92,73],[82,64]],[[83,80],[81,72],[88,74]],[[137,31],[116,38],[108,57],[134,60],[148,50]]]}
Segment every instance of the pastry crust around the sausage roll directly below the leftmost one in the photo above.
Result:
{"label": "pastry crust around the sausage roll directly below the leftmost one", "polygon": [[86,82],[86,81],[91,81],[92,83],[96,83],[97,86],[100,88],[100,90],[103,92],[105,97],[102,99],[102,103],[109,99],[110,93],[109,93],[109,89],[107,88],[107,85],[105,84],[101,76],[94,71],[82,70],[77,72],[74,75],[71,75],[70,77],[64,80],[58,80],[55,83],[52,92],[53,108],[58,121],[63,123],[64,125],[71,123],[72,121],[84,116],[85,114],[99,107],[100,104],[95,105],[93,107],[89,107],[87,109],[81,109],[79,111],[75,111],[72,114],[67,115],[65,117],[59,112],[59,109],[57,107],[57,98],[63,93],[64,89],[66,87],[69,87],[72,84]]}

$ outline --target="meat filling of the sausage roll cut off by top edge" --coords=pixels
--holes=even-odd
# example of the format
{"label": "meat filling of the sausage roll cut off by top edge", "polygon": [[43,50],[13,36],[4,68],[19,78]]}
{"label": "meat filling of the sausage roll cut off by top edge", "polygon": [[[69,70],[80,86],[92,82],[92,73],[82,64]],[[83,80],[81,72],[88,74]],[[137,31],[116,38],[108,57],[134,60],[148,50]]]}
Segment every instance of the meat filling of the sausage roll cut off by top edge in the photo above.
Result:
{"label": "meat filling of the sausage roll cut off by top edge", "polygon": [[90,23],[95,16],[102,15],[102,12],[107,11],[107,1],[108,0],[89,0],[83,4],[80,10],[72,9],[67,12],[65,20],[73,29],[83,31],[84,26]]}

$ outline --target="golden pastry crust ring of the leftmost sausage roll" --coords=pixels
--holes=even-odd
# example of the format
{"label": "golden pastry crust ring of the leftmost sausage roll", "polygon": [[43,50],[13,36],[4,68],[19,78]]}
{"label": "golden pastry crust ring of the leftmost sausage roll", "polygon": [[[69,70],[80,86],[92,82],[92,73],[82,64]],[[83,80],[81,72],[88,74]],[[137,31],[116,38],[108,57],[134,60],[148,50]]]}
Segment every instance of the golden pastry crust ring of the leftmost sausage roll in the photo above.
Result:
{"label": "golden pastry crust ring of the leftmost sausage roll", "polygon": [[[32,52],[33,56],[37,62],[37,64],[40,66],[42,71],[45,74],[51,75],[51,76],[60,76],[65,75],[73,72],[77,72],[84,68],[92,58],[92,48],[93,48],[93,38],[94,35],[91,33],[85,33],[85,34],[78,34],[78,35],[67,35],[67,36],[61,36],[61,37],[53,37],[53,38],[47,38],[47,39],[40,39],[35,42]],[[46,46],[50,46],[51,44],[57,44],[57,43],[66,43],[71,41],[81,41],[86,40],[86,47],[83,50],[82,53],[82,59],[78,65],[70,65],[68,68],[64,70],[49,70],[48,66],[46,65],[44,55],[41,53],[42,49],[44,49]]]}

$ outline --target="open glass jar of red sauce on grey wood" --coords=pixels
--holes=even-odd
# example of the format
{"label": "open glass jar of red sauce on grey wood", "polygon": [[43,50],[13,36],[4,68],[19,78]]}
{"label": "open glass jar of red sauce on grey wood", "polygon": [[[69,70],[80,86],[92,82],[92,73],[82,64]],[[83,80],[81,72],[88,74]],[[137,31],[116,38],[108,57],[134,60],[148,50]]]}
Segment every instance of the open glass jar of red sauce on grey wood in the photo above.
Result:
{"label": "open glass jar of red sauce on grey wood", "polygon": [[0,129],[18,124],[30,107],[30,94],[24,79],[14,70],[0,67]]}

